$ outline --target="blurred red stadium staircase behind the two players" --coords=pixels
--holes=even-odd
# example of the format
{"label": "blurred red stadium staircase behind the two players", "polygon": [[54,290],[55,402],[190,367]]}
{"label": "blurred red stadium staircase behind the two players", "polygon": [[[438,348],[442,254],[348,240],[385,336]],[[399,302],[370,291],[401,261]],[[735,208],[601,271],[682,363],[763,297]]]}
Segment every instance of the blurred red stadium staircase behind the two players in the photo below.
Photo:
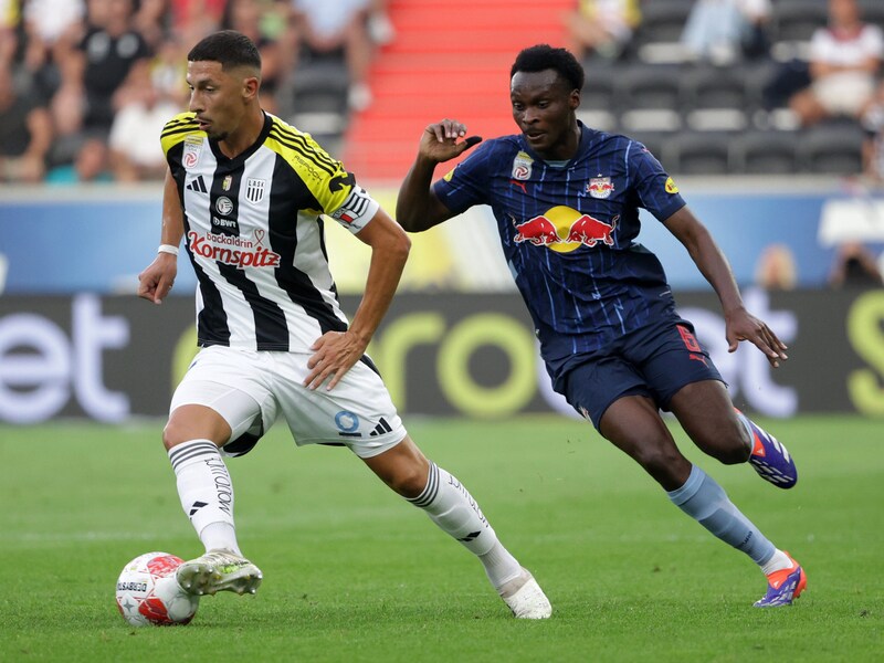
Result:
{"label": "blurred red stadium staircase behind the two players", "polygon": [[344,162],[362,181],[398,183],[423,128],[445,117],[483,137],[515,133],[509,67],[519,50],[562,45],[573,0],[391,0],[394,41],[369,74],[375,101],[354,114]]}

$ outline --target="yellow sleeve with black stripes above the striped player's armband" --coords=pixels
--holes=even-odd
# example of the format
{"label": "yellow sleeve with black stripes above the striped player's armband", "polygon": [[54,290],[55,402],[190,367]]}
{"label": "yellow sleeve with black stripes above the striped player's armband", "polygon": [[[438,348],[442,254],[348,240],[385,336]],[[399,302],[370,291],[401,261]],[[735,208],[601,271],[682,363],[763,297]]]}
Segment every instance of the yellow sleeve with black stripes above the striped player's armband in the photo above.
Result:
{"label": "yellow sleeve with black stripes above the striped player's armband", "polygon": [[354,186],[352,176],[309,134],[273,117],[273,127],[264,146],[280,155],[319,201],[322,209],[315,211],[334,212],[347,200]]}

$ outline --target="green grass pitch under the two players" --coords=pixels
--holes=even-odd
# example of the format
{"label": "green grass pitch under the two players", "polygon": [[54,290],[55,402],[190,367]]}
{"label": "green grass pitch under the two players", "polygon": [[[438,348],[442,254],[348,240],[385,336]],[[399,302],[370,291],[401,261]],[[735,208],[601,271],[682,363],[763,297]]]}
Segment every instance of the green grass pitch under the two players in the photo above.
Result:
{"label": "green grass pitch under the two players", "polygon": [[0,427],[0,661],[883,660],[881,422],[762,423],[798,460],[793,491],[682,448],[804,565],[791,608],[754,609],[755,565],[586,423],[412,420],[535,572],[552,619],[512,619],[481,565],[355,456],[295,449],[277,425],[230,464],[261,591],[206,598],[172,629],[131,629],[113,599],[130,558],[202,552],[161,423]]}

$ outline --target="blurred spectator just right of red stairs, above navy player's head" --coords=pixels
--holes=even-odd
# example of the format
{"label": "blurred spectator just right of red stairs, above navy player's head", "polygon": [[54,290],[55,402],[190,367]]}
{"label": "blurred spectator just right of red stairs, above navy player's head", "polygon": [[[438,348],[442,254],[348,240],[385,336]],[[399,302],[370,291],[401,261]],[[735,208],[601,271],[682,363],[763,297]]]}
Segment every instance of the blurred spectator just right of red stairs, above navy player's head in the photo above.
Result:
{"label": "blurred spectator just right of red stairs, above navy player's head", "polygon": [[641,22],[636,0],[579,0],[565,15],[568,50],[578,60],[594,54],[617,60]]}

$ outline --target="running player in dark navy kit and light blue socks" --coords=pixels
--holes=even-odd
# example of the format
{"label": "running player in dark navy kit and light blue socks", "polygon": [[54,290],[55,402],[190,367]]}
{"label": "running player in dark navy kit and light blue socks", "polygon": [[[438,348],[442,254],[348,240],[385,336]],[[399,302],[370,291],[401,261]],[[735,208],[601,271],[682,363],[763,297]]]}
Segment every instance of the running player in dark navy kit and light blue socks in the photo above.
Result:
{"label": "running player in dark navy kit and light blue socks", "polygon": [[685,245],[715,288],[730,351],[748,340],[778,367],[786,346],[746,311],[724,254],[660,162],[640,143],[577,119],[582,86],[583,70],[568,51],[546,44],[522,51],[509,88],[519,134],[485,141],[431,183],[438,164],[481,138],[466,137],[453,119],[428,126],[397,220],[419,232],[490,206],[556,391],[676,506],[761,568],[768,590],[756,606],[789,604],[804,589],[803,569],[682,455],[660,410],[673,412],[705,453],[725,464],[748,461],[781,488],[796,484],[794,463],[734,408],[693,326],[678,317],[660,261],[635,242],[639,209]]}

